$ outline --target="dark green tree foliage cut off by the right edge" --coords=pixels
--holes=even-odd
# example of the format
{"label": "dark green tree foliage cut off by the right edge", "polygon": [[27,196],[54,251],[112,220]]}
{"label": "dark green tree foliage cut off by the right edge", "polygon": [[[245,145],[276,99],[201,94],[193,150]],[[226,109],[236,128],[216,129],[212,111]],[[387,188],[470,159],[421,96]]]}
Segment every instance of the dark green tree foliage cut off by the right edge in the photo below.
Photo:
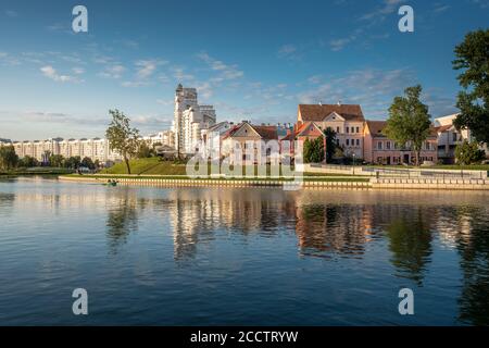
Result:
{"label": "dark green tree foliage cut off by the right edge", "polygon": [[468,33],[455,47],[453,69],[464,88],[456,107],[461,113],[454,121],[459,129],[471,129],[477,141],[489,142],[489,29]]}

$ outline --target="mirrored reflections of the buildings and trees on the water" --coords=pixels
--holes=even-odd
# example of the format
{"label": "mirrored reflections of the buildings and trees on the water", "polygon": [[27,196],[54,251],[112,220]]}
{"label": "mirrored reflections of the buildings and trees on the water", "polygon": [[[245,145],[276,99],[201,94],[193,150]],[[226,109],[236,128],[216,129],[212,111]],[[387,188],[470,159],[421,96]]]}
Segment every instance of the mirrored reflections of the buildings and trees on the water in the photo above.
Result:
{"label": "mirrored reflections of the buildings and trees on the water", "polygon": [[[249,237],[285,237],[286,243],[297,243],[305,258],[362,259],[371,250],[385,250],[396,276],[423,285],[435,250],[453,250],[459,256],[453,276],[462,277],[459,320],[489,325],[489,210],[487,195],[480,192],[47,185],[28,182],[14,194],[2,186],[0,216],[12,219],[25,207],[52,219],[66,211],[89,215],[102,209],[112,253],[121,251],[131,233],[143,229],[141,222],[150,216],[151,228],[171,235],[174,259],[183,265],[218,238],[247,243]],[[147,263],[145,270],[151,269],[149,258]]]}

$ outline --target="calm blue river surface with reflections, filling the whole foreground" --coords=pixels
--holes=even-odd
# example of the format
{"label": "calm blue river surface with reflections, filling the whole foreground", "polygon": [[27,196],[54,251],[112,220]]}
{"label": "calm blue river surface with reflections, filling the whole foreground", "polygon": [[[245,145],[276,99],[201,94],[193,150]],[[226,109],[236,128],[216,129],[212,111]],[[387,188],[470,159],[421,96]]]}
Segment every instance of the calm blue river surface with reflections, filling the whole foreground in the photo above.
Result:
{"label": "calm blue river surface with reflections, filling the whole foreground", "polygon": [[488,325],[488,202],[3,179],[0,324]]}

